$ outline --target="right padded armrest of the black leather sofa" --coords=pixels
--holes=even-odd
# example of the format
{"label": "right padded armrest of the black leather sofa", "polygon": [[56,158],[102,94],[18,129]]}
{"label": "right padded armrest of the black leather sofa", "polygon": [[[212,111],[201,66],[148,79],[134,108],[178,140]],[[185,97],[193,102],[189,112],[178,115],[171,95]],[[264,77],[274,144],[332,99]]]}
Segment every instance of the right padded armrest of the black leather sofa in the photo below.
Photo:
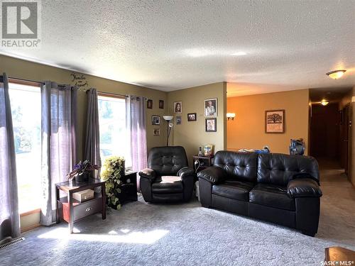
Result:
{"label": "right padded armrest of the black leather sofa", "polygon": [[322,190],[317,182],[310,178],[298,178],[288,182],[287,193],[290,198],[319,198]]}

